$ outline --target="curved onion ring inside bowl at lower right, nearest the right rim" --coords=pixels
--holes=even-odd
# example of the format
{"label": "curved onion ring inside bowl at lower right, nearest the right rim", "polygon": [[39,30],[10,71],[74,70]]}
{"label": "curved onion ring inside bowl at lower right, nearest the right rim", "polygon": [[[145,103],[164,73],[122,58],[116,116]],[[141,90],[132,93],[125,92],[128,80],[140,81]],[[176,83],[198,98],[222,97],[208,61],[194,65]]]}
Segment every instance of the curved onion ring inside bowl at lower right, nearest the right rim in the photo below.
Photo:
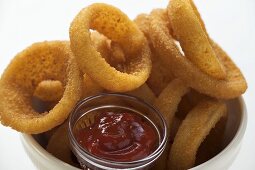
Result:
{"label": "curved onion ring inside bowl at lower right, nearest the right rim", "polygon": [[[195,164],[197,150],[216,123],[227,115],[226,105],[203,100],[181,123],[170,150],[169,169],[189,169]],[[188,141],[188,142],[187,142]]]}

